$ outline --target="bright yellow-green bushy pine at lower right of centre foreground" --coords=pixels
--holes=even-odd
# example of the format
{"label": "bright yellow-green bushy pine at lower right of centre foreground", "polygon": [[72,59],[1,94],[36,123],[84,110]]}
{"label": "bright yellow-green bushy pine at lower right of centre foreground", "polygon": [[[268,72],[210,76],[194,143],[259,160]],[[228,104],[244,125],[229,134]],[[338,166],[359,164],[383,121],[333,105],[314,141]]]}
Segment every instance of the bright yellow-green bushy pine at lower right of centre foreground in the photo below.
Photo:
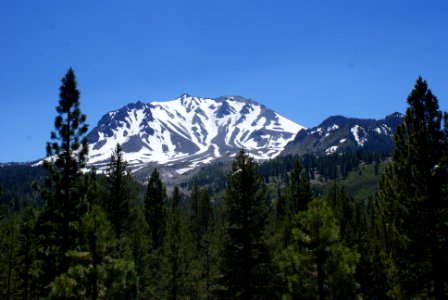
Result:
{"label": "bright yellow-green bushy pine at lower right of centre foreground", "polygon": [[320,199],[297,214],[293,240],[280,260],[285,299],[357,299],[356,252],[342,244],[331,209]]}

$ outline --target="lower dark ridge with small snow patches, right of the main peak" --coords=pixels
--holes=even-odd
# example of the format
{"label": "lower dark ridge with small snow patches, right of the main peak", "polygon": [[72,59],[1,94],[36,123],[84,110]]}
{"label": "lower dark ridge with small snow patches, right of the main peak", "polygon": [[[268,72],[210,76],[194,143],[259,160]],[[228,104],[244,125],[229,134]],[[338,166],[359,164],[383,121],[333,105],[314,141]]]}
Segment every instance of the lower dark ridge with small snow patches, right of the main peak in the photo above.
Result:
{"label": "lower dark ridge with small snow patches, right of the main peak", "polygon": [[359,149],[391,153],[393,134],[403,121],[403,115],[393,113],[381,120],[332,116],[319,126],[300,131],[286,145],[286,154],[348,153]]}

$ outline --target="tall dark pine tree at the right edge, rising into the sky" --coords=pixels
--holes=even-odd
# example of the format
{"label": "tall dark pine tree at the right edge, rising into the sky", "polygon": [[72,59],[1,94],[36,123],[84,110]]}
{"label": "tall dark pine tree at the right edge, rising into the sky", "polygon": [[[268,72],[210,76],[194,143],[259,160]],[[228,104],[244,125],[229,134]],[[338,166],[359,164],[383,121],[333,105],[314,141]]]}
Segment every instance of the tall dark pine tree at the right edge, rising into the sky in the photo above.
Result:
{"label": "tall dark pine tree at the right edge, rising into the sky", "polygon": [[444,299],[447,248],[445,117],[426,81],[418,78],[404,121],[394,134],[392,162],[381,177],[391,251],[406,298]]}

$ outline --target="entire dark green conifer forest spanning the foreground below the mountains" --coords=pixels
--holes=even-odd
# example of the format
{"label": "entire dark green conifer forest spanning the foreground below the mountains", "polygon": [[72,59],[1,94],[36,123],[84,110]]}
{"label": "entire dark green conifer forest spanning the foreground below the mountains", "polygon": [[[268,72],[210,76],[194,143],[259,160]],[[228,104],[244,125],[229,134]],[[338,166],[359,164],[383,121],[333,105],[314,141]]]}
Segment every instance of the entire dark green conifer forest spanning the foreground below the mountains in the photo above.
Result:
{"label": "entire dark green conifer forest spanning the foreground below the mountains", "polygon": [[[120,145],[85,171],[69,69],[43,166],[0,170],[0,298],[445,299],[448,115],[422,78],[407,103],[393,153],[258,164],[241,150],[143,186]],[[368,170],[370,194],[353,196]]]}

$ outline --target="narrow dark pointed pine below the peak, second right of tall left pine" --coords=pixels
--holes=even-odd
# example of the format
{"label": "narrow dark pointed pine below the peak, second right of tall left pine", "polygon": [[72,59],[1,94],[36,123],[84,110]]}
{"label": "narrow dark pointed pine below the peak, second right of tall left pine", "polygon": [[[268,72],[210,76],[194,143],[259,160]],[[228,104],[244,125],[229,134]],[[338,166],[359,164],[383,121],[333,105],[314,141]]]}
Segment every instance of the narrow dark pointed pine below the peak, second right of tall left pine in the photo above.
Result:
{"label": "narrow dark pointed pine below the peak, second right of tall left pine", "polygon": [[145,216],[151,239],[152,249],[160,249],[163,245],[166,224],[166,189],[157,169],[151,173],[145,193]]}

